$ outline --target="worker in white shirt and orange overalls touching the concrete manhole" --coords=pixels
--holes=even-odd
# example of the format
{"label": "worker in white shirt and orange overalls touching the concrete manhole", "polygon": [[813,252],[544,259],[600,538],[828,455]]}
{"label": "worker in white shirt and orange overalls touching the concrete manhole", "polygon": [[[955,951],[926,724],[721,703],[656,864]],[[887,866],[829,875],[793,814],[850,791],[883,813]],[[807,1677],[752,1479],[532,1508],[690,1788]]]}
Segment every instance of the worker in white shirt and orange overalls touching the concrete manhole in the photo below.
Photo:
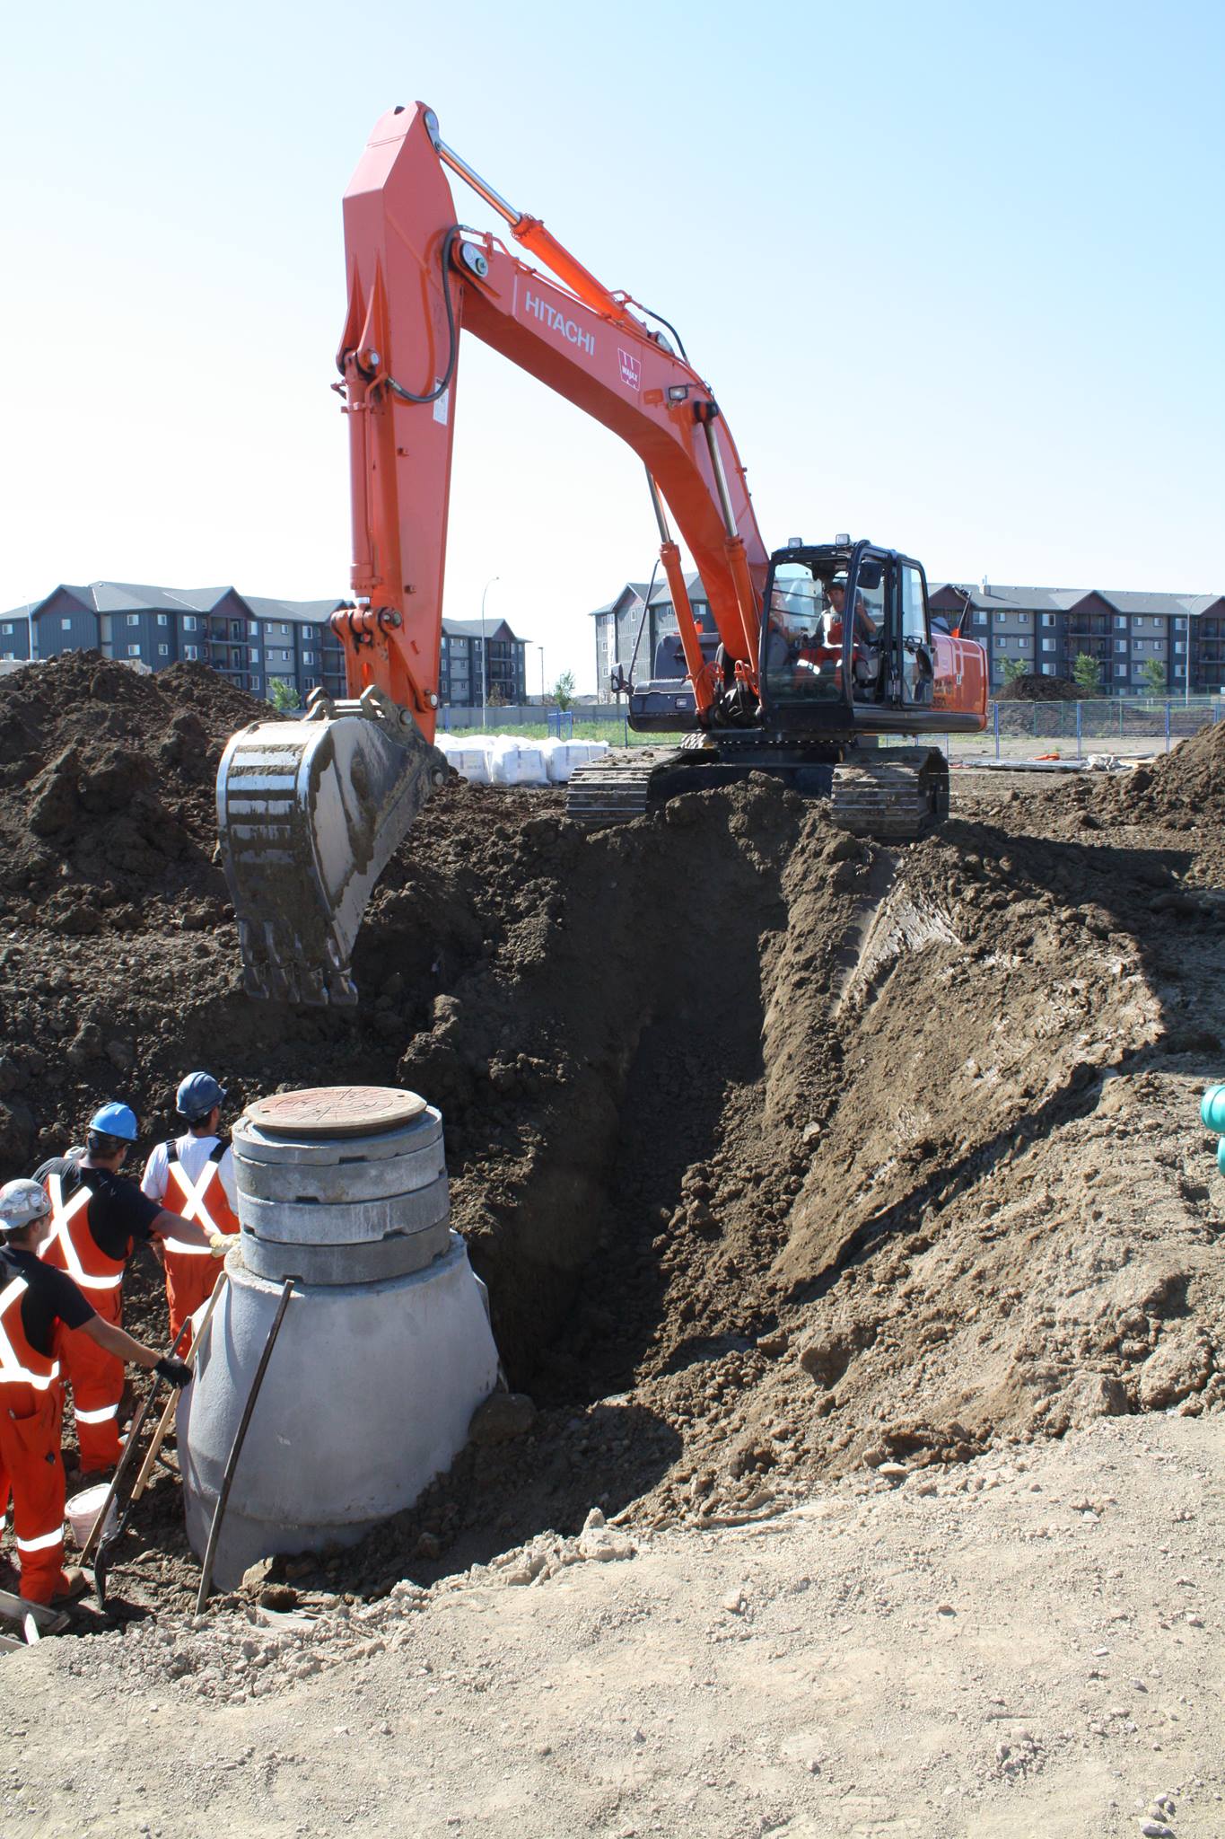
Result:
{"label": "worker in white shirt and orange overalls touching the concrete manhole", "polygon": [[[230,1138],[219,1135],[226,1091],[211,1072],[189,1072],[174,1094],[178,1114],[187,1120],[182,1137],[158,1144],[145,1162],[141,1194],[198,1221],[209,1234],[233,1238],[239,1230],[239,1190]],[[189,1315],[208,1302],[220,1276],[204,1245],[171,1234],[165,1241],[165,1300],[171,1309],[171,1341]]]}

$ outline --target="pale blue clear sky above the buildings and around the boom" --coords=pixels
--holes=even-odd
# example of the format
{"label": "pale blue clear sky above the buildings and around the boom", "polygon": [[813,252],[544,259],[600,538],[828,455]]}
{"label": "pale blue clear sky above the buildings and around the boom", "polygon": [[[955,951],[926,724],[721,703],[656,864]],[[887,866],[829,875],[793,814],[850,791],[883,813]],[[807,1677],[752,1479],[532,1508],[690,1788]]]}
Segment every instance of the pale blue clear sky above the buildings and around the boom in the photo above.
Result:
{"label": "pale blue clear sky above the buildings and around the boom", "polygon": [[[768,544],[1225,590],[1219,0],[68,0],[6,74],[0,607],[347,588],[340,199],[415,97],[680,326]],[[652,559],[634,456],[468,340],[446,611],[496,576],[591,688],[586,612]]]}

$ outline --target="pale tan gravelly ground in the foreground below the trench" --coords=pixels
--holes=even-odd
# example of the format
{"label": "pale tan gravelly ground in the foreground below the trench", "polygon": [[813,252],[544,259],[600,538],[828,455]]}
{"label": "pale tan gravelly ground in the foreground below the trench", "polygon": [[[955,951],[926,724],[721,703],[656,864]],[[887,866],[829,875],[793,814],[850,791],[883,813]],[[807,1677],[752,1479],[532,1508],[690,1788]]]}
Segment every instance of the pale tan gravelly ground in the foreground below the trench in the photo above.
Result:
{"label": "pale tan gravelly ground in the foreground below the trench", "polygon": [[547,1539],[44,1642],[0,1668],[4,1832],[1216,1839],[1223,1456],[1219,1416],[1109,1418],[533,1583]]}

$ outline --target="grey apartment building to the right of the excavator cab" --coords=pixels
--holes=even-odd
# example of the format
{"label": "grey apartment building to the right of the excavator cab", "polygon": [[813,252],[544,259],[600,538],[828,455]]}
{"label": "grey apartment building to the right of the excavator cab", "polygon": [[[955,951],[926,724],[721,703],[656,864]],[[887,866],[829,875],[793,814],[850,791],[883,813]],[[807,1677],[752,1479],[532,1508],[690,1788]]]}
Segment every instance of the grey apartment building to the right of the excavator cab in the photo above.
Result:
{"label": "grey apartment building to the right of the excavator cab", "polygon": [[1100,695],[1152,695],[1150,664],[1170,693],[1219,695],[1225,686],[1225,596],[1137,594],[1115,588],[929,583],[933,612],[962,616],[962,633],[986,647],[990,682],[1005,664],[1036,677],[1071,677],[1076,658],[1098,668]]}

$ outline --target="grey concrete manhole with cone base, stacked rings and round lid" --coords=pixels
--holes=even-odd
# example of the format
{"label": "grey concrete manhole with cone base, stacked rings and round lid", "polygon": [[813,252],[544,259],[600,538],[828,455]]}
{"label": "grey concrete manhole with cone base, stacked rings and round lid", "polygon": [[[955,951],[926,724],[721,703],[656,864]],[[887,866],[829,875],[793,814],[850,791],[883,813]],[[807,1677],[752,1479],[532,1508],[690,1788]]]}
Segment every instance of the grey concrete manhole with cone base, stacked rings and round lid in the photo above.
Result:
{"label": "grey concrete manhole with cone base, stacked rings and round lid", "polygon": [[204,1554],[287,1276],[294,1291],[213,1569],[351,1545],[463,1447],[498,1376],[483,1287],[448,1225],[443,1120],[415,1092],[261,1100],[233,1133],[241,1234],[178,1407],[187,1537]]}

